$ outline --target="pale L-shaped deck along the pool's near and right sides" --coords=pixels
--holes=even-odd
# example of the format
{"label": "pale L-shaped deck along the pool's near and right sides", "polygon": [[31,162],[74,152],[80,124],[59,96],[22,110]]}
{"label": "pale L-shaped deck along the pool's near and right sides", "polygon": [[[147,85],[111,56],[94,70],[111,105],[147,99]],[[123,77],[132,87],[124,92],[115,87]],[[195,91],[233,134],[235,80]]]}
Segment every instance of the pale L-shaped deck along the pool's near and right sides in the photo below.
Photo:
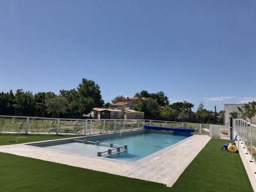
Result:
{"label": "pale L-shaped deck along the pool's near and right sides", "polygon": [[171,187],[209,141],[210,137],[207,135],[193,135],[137,162],[67,154],[63,151],[25,145],[26,143],[0,146],[0,152],[163,183]]}

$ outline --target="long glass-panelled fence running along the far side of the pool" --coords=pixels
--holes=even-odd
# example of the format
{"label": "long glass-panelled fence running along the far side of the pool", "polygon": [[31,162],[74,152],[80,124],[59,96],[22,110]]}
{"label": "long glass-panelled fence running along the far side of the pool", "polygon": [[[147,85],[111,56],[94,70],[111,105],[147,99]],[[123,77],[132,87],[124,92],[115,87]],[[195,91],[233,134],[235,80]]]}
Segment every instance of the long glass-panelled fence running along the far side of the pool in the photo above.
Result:
{"label": "long glass-panelled fence running along the far side of the pool", "polygon": [[192,128],[195,134],[210,133],[210,124],[148,119],[68,119],[0,115],[0,133],[93,135],[143,129],[144,125]]}

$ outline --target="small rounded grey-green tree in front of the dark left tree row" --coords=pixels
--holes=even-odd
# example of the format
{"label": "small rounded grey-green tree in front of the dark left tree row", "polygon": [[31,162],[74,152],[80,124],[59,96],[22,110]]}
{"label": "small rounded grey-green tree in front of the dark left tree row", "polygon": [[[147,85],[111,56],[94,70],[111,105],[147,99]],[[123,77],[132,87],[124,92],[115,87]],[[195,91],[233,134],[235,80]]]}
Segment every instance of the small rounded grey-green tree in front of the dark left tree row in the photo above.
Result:
{"label": "small rounded grey-green tree in front of the dark left tree row", "polygon": [[68,101],[65,97],[57,96],[54,98],[47,98],[45,100],[47,113],[52,113],[52,117],[59,118],[61,113],[66,113],[68,108]]}

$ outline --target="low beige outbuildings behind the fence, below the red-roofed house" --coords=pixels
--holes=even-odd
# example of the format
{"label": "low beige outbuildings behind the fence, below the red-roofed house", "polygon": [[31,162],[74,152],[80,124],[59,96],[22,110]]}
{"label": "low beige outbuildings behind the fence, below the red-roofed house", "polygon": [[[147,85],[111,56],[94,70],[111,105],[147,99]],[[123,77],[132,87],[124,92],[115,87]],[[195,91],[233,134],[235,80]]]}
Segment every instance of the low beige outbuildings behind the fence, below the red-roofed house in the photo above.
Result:
{"label": "low beige outbuildings behind the fence, below the red-roofed house", "polygon": [[103,108],[94,108],[90,115],[94,119],[144,119],[144,112],[132,109],[125,109],[124,117],[121,117],[121,110],[119,109]]}

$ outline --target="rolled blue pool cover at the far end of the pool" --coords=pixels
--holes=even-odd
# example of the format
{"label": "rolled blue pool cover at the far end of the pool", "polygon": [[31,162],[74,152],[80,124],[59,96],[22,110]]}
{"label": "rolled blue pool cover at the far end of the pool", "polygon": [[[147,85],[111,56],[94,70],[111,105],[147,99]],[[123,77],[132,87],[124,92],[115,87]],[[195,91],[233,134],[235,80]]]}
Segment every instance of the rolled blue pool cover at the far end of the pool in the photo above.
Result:
{"label": "rolled blue pool cover at the far end of the pool", "polygon": [[191,128],[175,128],[175,127],[164,127],[164,126],[155,126],[155,125],[144,125],[144,128],[147,130],[158,130],[158,131],[173,131],[173,134],[176,135],[192,135],[191,132],[194,132],[194,129]]}

